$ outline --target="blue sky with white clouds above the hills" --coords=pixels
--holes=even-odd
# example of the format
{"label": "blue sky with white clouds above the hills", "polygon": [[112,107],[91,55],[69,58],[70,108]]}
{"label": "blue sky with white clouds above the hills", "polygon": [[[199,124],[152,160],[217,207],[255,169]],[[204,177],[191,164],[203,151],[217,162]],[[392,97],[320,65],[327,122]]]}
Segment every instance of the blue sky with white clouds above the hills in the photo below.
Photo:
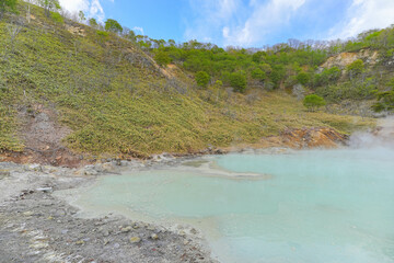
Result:
{"label": "blue sky with white clouds above the hills", "polygon": [[264,47],[289,38],[337,39],[394,24],[394,0],[60,0],[70,12],[115,19],[177,43]]}

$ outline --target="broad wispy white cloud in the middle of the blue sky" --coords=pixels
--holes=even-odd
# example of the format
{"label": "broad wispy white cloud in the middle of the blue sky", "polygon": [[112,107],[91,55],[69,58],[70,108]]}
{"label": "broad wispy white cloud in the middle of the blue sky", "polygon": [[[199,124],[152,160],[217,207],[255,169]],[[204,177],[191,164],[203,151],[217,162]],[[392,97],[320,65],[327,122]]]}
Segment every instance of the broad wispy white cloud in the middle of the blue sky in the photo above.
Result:
{"label": "broad wispy white cloud in the middle of the blue sky", "polygon": [[196,19],[185,38],[217,38],[223,45],[250,46],[264,42],[268,33],[289,23],[306,0],[189,0]]}

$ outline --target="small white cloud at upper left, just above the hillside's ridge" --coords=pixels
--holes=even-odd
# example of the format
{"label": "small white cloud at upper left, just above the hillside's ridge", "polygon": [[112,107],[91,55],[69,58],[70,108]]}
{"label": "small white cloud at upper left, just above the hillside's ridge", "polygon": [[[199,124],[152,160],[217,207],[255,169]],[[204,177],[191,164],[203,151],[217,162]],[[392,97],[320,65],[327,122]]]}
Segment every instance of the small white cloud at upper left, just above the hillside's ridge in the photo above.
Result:
{"label": "small white cloud at upper left, just above the hillside's ridge", "polygon": [[[109,0],[114,1],[114,0]],[[60,0],[60,5],[71,13],[83,11],[88,18],[105,19],[105,13],[100,0]]]}

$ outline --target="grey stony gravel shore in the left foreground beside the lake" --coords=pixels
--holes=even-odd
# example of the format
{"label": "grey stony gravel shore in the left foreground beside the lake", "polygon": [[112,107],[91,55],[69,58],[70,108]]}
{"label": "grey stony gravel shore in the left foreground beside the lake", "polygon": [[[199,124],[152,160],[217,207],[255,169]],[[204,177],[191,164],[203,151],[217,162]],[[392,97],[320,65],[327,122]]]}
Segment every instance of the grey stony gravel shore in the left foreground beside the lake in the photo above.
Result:
{"label": "grey stony gravel shore in the left foreground beside the lake", "polygon": [[0,163],[0,262],[217,262],[198,230],[113,215],[79,218],[76,207],[53,194],[146,165],[152,163],[113,161],[78,170]]}

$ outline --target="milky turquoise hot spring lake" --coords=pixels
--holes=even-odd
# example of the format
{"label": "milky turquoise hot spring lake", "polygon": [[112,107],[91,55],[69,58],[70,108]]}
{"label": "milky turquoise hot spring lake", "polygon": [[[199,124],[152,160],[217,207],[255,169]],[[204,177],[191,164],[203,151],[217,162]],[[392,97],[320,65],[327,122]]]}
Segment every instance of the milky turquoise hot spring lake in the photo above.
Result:
{"label": "milky turquoise hot spring lake", "polygon": [[224,263],[394,262],[392,149],[205,157],[100,178],[74,204],[189,224]]}

